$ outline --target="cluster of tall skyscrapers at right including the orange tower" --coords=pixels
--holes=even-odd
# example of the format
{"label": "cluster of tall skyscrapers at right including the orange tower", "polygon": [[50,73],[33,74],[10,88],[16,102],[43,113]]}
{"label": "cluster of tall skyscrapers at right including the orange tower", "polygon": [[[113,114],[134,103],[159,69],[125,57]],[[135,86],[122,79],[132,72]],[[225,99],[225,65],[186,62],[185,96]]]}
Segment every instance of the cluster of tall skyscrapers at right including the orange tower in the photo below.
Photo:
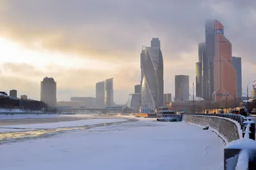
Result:
{"label": "cluster of tall skyscrapers at right including the orange tower", "polygon": [[242,96],[241,58],[232,57],[232,43],[218,20],[205,22],[205,41],[198,44],[196,96],[205,100],[234,100]]}

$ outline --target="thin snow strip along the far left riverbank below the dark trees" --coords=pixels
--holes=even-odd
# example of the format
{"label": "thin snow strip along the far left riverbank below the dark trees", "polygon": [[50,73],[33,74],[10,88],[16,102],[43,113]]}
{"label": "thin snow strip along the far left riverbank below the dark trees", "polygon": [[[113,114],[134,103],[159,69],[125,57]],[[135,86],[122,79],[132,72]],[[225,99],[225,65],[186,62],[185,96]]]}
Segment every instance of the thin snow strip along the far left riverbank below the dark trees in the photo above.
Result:
{"label": "thin snow strip along the far left riverbank below the dark trees", "polygon": [[8,120],[8,119],[20,119],[20,118],[49,118],[49,117],[58,117],[58,114],[44,114],[44,113],[38,113],[38,114],[0,114],[0,120]]}

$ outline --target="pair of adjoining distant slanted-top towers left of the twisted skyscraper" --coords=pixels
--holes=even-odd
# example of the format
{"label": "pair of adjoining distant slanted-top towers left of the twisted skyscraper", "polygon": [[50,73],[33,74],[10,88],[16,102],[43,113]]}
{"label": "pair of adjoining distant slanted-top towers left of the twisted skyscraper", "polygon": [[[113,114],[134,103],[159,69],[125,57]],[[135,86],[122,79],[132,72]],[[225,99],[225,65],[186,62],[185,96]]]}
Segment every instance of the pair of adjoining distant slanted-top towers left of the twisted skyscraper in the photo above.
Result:
{"label": "pair of adjoining distant slanted-top towers left of the twisted skyscraper", "polygon": [[97,107],[113,107],[114,103],[114,78],[106,79],[96,83],[96,106]]}

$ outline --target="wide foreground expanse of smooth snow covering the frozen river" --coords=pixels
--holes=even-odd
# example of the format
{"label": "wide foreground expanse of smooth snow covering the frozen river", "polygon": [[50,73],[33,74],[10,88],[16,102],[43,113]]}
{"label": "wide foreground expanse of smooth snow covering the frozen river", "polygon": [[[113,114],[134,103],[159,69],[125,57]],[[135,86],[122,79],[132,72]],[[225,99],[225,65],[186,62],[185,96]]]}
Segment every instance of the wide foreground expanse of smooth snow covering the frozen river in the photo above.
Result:
{"label": "wide foreground expanse of smooth snow covering the frozen river", "polygon": [[[139,119],[0,145],[1,169],[223,169],[223,142],[185,122]],[[143,120],[143,121],[142,121]]]}

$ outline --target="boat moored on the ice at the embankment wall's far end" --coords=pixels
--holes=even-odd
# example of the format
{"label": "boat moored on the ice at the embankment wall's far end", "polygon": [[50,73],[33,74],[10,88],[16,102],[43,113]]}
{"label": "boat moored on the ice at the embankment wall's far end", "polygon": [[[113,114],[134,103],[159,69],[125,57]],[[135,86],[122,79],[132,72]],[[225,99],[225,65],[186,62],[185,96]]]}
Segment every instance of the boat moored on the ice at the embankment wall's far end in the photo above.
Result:
{"label": "boat moored on the ice at the embankment wall's far end", "polygon": [[156,120],[161,122],[177,122],[180,120],[180,115],[176,111],[168,110],[168,108],[158,108]]}

